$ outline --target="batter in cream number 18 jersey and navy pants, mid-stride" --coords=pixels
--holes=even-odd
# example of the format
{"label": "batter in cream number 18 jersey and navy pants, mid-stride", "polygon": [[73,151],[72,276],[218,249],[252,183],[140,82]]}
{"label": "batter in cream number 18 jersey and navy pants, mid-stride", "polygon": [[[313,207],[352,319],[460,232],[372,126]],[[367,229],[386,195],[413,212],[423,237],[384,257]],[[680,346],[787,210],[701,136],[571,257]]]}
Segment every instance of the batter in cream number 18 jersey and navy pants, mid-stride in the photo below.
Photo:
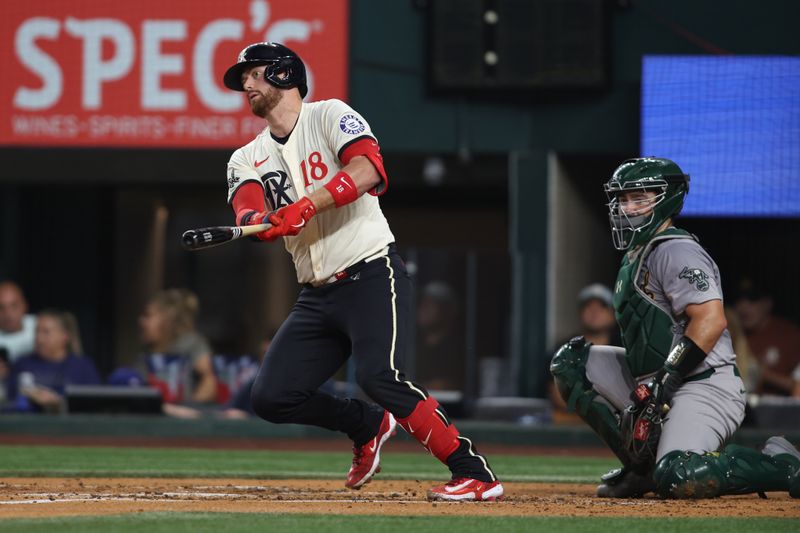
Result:
{"label": "batter in cream number 18 jersey and navy pants, mid-stride", "polygon": [[[452,472],[430,499],[502,497],[486,459],[403,374],[411,283],[378,203],[388,181],[367,121],[339,100],[303,102],[303,62],[278,43],[246,47],[224,83],[268,124],[231,157],[228,202],[237,224],[272,224],[257,238],[283,238],[303,285],[253,385],[255,412],[346,433],[349,488],[379,471],[381,446],[399,423]],[[378,405],[318,390],[351,355],[358,384]]]}

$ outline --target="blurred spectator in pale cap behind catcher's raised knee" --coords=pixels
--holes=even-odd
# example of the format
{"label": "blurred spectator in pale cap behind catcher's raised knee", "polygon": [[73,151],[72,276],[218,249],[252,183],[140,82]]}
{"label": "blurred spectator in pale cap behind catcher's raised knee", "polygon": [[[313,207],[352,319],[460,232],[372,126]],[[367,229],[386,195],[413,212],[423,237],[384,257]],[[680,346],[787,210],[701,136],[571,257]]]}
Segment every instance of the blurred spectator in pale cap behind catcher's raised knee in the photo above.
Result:
{"label": "blurred spectator in pale cap behind catcher's raised knee", "polygon": [[[567,339],[562,339],[556,346],[564,345],[569,339],[583,336],[587,341],[606,346],[622,346],[619,327],[614,317],[614,303],[611,289],[602,283],[587,285],[578,292],[578,331]],[[549,375],[550,359],[547,360]],[[567,412],[567,405],[550,383],[548,388],[550,401],[553,404],[553,421],[556,423],[582,423],[575,413]]]}

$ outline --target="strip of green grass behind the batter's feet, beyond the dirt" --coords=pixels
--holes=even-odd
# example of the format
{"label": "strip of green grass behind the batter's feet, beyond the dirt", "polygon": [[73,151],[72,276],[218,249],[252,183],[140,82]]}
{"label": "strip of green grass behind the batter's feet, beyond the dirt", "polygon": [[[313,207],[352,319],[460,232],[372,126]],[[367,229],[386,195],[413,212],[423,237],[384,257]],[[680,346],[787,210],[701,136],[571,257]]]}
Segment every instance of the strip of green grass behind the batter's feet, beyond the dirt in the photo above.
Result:
{"label": "strip of green grass behind the batter's feet, beyond the dirt", "polygon": [[[349,452],[288,452],[161,448],[0,446],[0,476],[241,477],[259,479],[342,478]],[[588,457],[490,457],[507,481],[594,483],[616,466]],[[445,479],[436,459],[419,453],[381,456],[382,479]]]}

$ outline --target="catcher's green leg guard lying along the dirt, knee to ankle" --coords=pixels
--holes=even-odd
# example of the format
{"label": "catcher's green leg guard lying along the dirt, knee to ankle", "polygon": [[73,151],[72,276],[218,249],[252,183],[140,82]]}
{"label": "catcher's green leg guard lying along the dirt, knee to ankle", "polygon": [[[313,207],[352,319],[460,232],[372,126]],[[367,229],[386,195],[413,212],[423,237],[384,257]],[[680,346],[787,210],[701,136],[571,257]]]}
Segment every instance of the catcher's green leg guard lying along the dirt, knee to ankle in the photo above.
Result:
{"label": "catcher's green leg guard lying along the dirt, knee to ankle", "polygon": [[800,459],[793,455],[770,456],[730,444],[719,453],[669,452],[658,461],[653,476],[662,498],[699,499],[789,491],[798,470]]}

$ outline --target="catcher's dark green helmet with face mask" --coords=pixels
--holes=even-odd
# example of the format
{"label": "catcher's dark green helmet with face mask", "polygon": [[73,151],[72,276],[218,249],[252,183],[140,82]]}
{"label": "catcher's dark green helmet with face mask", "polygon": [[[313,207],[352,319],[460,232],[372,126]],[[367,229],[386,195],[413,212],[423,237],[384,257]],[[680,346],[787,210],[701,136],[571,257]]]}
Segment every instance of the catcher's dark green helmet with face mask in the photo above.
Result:
{"label": "catcher's dark green helmet with face mask", "polygon": [[[664,221],[681,212],[689,192],[689,176],[669,159],[628,159],[614,171],[605,191],[614,247],[627,250],[648,242]],[[656,193],[647,213],[628,215],[620,208],[618,195],[629,191]]]}

